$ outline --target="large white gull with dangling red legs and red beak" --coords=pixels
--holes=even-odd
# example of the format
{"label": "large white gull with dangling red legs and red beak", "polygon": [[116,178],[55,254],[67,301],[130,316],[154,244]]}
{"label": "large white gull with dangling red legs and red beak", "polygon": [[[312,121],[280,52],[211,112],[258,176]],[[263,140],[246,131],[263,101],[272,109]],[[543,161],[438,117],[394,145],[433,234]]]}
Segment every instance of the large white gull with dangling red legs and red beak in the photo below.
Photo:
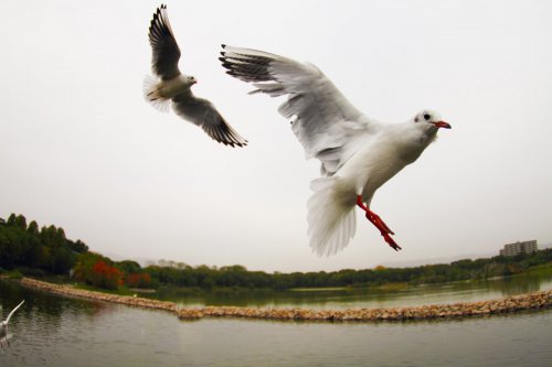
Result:
{"label": "large white gull with dangling red legs and red beak", "polygon": [[288,95],[278,111],[308,158],[321,162],[322,177],[310,184],[310,247],[319,256],[343,249],[354,236],[359,206],[395,250],[394,233],[370,209],[375,191],[435,140],[440,116],[423,110],[403,123],[383,123],[354,108],[315,65],[263,51],[222,45],[227,74],[257,88],[250,94]]}

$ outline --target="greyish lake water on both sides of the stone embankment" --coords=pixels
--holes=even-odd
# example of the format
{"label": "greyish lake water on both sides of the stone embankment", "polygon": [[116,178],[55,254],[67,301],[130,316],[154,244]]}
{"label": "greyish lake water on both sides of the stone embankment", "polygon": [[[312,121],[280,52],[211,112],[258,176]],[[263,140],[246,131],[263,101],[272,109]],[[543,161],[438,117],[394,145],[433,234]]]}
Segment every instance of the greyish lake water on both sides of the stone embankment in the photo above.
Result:
{"label": "greyish lake water on both sides of the stone embankment", "polygon": [[[511,287],[497,280],[468,289],[449,284],[406,294],[380,293],[364,300],[359,294],[339,300],[335,291],[326,300],[326,292],[299,292],[298,298],[273,294],[265,295],[264,301],[244,301],[242,294],[240,299],[250,305],[388,306],[500,298],[552,285],[548,276],[526,279],[528,289],[520,285],[522,280],[516,282],[519,284]],[[212,319],[184,322],[167,312],[62,298],[0,281],[2,316],[23,299],[25,303],[10,322],[11,347],[0,350],[2,367],[550,366],[552,361],[552,310],[365,324]]]}

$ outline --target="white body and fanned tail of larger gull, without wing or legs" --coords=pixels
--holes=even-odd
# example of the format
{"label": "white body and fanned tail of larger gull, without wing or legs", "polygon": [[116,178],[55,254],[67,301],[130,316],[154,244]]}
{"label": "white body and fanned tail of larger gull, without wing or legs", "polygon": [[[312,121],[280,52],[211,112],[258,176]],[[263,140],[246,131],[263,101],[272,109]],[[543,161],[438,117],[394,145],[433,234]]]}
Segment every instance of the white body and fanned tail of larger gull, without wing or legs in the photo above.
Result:
{"label": "white body and fanned tail of larger gull, without wing or legs", "polygon": [[358,195],[369,206],[375,191],[413,163],[434,137],[410,121],[382,126],[333,175],[314,180],[307,205],[312,250],[329,256],[347,246],[355,231]]}

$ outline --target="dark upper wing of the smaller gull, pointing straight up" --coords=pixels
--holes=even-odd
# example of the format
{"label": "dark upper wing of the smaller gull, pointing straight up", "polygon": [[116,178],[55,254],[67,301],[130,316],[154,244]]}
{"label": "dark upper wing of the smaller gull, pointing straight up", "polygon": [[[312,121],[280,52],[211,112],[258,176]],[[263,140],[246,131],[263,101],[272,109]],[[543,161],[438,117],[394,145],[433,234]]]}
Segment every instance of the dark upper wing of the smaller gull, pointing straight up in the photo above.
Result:
{"label": "dark upper wing of the smaller gull, pointing straight up", "polygon": [[161,6],[153,14],[149,26],[149,44],[151,45],[151,69],[161,79],[168,80],[180,75],[178,61],[180,48],[172,33],[167,14],[167,6]]}

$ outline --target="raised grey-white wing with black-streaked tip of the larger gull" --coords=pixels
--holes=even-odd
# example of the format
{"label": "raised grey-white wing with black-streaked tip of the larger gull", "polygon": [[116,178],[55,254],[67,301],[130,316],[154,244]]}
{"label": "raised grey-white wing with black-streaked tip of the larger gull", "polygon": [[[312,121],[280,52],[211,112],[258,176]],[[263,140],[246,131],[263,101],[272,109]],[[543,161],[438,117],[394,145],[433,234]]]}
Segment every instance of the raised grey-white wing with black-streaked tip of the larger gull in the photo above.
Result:
{"label": "raised grey-white wing with black-streaked tip of the larger gull", "polygon": [[315,65],[251,48],[222,45],[220,57],[227,74],[277,97],[288,95],[278,111],[293,119],[293,131],[307,158],[322,162],[331,175],[357,151],[358,138],[379,123],[369,119]]}

